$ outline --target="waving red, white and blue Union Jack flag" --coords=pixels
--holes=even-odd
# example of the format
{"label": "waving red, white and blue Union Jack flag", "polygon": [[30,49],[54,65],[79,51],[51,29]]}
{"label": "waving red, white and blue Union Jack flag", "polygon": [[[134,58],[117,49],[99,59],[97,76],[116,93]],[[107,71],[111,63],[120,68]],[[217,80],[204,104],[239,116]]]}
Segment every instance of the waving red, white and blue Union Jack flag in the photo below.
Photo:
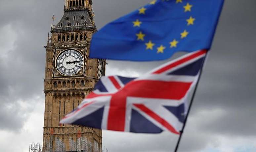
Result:
{"label": "waving red, white and blue Union Jack flag", "polygon": [[206,56],[199,50],[139,78],[102,77],[94,91],[61,124],[134,133],[179,134],[186,100]]}

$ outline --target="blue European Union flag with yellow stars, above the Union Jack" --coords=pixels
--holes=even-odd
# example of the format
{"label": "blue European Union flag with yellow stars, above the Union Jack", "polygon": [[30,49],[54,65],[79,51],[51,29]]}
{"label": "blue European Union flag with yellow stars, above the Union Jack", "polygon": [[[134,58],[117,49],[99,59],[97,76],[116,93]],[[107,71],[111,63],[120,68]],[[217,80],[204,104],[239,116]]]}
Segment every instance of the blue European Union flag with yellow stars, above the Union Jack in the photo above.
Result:
{"label": "blue European Union flag with yellow stars, above the Union Jack", "polygon": [[90,58],[149,61],[210,49],[224,0],[153,0],[95,33]]}

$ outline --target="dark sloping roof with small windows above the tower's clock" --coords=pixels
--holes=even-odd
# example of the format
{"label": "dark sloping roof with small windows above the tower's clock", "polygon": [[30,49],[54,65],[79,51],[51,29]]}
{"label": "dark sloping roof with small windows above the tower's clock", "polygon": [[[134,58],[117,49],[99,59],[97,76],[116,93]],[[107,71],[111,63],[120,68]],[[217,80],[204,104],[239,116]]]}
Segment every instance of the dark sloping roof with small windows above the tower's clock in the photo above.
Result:
{"label": "dark sloping roof with small windows above the tower's clock", "polygon": [[[81,19],[81,16],[84,16],[83,19]],[[74,20],[73,17],[76,16],[76,19]],[[66,17],[68,17],[68,20],[66,20]],[[86,26],[84,25],[84,22],[86,21]],[[79,26],[76,25],[76,23],[79,22]],[[65,11],[62,19],[60,22],[52,28],[52,33],[57,32],[63,32],[64,30],[86,30],[94,28],[93,25],[93,17],[89,15],[88,10],[77,10],[77,11]],[[68,23],[70,23],[70,26],[68,26]],[[61,27],[61,24],[63,26]]]}

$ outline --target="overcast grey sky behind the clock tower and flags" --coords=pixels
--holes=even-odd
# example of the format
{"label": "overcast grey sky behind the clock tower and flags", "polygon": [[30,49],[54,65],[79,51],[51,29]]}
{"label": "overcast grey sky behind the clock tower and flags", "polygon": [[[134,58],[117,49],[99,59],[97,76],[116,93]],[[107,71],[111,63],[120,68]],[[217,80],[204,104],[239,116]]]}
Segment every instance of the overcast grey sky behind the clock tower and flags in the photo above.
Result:
{"label": "overcast grey sky behind the clock tower and flags", "polygon": [[[107,22],[149,0],[93,0]],[[0,151],[28,152],[43,134],[45,49],[64,0],[1,0]],[[56,22],[55,22],[56,23]],[[177,57],[181,54],[176,54]],[[256,151],[256,0],[226,0],[180,152]],[[166,62],[107,61],[107,75],[140,76]],[[177,136],[104,131],[109,152],[170,152]]]}

